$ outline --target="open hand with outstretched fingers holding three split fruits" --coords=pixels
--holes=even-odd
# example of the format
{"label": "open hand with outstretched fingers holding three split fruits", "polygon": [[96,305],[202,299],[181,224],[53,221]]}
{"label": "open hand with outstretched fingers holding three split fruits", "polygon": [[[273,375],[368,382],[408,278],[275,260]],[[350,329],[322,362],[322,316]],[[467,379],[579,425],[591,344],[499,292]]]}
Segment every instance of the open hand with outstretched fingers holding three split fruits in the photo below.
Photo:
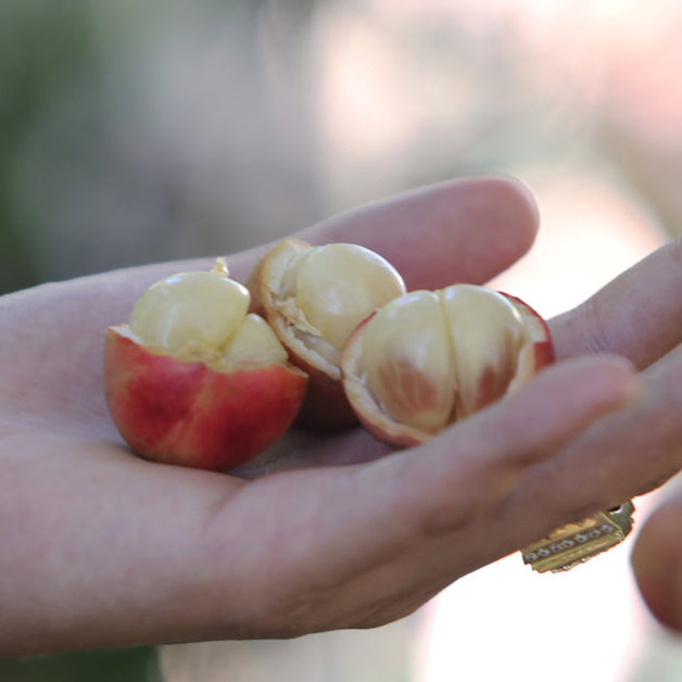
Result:
{"label": "open hand with outstretched fingers holding three split fruits", "polygon": [[[414,289],[484,282],[536,229],[522,186],[481,178],[296,236],[372,248]],[[232,276],[265,249],[229,257]],[[134,456],[102,397],[106,326],[210,261],[0,299],[0,655],[380,626],[655,488],[682,465],[681,253],[671,242],[551,320],[561,362],[427,444],[382,456],[359,428],[292,430],[239,476]]]}

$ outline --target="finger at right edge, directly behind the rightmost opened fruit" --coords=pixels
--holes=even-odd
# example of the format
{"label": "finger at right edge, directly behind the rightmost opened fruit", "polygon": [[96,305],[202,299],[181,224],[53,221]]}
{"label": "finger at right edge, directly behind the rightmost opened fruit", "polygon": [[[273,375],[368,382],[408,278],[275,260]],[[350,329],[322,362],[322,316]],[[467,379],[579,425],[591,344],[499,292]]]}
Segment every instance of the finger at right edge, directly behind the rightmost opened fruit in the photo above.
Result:
{"label": "finger at right edge, directly behind the rightmost opened fruit", "polygon": [[682,238],[678,238],[551,320],[557,356],[606,351],[647,367],[682,342],[681,291]]}

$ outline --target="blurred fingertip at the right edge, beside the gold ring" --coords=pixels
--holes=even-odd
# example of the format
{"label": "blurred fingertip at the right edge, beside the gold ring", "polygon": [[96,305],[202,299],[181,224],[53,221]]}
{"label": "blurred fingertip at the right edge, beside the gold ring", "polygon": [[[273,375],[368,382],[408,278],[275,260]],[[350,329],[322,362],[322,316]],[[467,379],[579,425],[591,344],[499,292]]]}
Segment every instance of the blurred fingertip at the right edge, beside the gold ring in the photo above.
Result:
{"label": "blurred fingertip at the right edge, beside the gold ring", "polygon": [[632,570],[651,612],[682,631],[682,495],[649,514],[632,550]]}

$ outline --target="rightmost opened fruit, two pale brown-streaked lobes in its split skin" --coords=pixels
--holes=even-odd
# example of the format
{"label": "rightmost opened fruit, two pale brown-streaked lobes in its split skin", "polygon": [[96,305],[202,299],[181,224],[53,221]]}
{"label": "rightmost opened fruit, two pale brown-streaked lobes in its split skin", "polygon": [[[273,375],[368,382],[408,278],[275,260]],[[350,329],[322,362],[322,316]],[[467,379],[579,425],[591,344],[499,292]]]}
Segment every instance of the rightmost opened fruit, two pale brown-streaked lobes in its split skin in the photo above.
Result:
{"label": "rightmost opened fruit, two pale brown-streaked lobes in its split skin", "polygon": [[415,445],[514,391],[554,359],[544,320],[484,287],[413,291],[366,319],[341,357],[343,386],[377,438]]}

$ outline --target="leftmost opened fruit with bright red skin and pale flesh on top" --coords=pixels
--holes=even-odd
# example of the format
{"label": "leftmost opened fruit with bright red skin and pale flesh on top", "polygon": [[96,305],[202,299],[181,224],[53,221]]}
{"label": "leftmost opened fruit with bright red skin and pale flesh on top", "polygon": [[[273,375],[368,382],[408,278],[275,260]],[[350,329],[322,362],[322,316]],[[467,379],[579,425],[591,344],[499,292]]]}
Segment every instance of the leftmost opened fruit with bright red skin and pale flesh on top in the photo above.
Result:
{"label": "leftmost opened fruit with bright red skin and pale flesh on top", "polygon": [[212,470],[243,464],[299,412],[307,377],[218,260],[212,271],[163,279],[110,327],[104,394],[139,455]]}

